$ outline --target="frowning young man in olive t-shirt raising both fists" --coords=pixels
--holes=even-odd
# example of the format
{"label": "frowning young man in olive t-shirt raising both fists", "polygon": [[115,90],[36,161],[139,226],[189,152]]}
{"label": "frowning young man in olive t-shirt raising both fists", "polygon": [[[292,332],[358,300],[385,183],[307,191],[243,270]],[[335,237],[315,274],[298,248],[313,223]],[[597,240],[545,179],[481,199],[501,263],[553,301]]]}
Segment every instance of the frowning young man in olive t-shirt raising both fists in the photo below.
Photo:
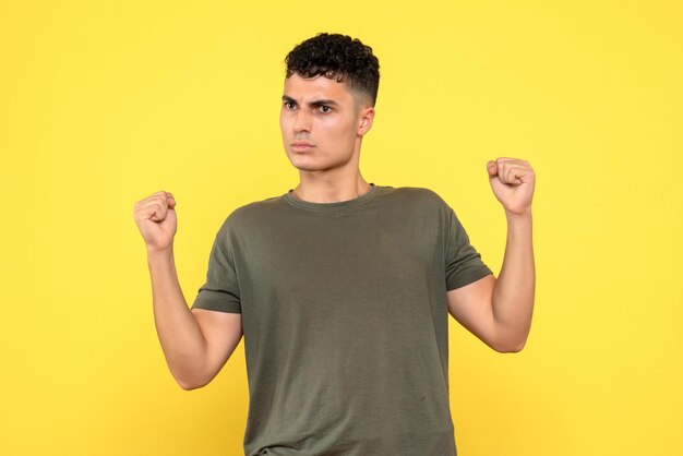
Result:
{"label": "frowning young man in olive t-shirt raising both fists", "polygon": [[173,263],[176,200],[135,204],[169,369],[202,387],[244,336],[249,456],[455,455],[447,315],[498,351],[525,345],[535,173],[513,158],[487,165],[507,217],[496,279],[438,194],[361,176],[371,48],[320,34],[286,62],[280,128],[300,182],[227,217],[191,310]]}

